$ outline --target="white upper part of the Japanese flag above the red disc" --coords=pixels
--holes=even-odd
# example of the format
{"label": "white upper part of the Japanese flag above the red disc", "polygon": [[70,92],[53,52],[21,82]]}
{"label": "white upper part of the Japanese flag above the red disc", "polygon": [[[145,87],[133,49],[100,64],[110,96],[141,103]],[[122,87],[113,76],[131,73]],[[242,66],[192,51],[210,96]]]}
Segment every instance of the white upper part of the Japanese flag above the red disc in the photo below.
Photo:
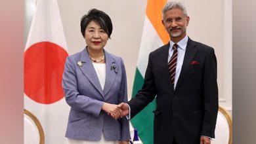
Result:
{"label": "white upper part of the Japanese flag above the red disc", "polygon": [[[49,7],[51,6],[51,7]],[[33,30],[32,30],[33,29]],[[63,41],[64,40],[64,41]],[[56,0],[38,0],[25,50],[39,41],[52,41],[66,51],[68,46]]]}

